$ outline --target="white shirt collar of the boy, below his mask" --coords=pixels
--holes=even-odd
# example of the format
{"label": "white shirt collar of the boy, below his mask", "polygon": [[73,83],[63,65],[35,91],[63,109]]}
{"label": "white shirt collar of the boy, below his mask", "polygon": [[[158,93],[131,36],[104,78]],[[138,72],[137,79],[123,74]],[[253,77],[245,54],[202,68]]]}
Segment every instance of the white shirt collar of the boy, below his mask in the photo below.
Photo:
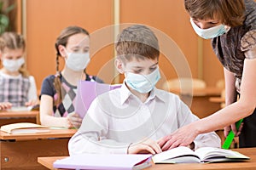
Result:
{"label": "white shirt collar of the boy, below his mask", "polygon": [[[131,91],[127,88],[126,84],[125,84],[125,80],[120,88],[120,93],[121,95],[121,105],[123,105],[125,103],[125,101],[127,99],[129,99],[130,96],[137,98],[137,96],[135,96],[134,94],[131,93]],[[165,101],[164,96],[162,96],[162,94],[160,93],[160,90],[158,90],[157,88],[153,88],[153,90],[151,90],[148,99],[144,102],[145,104],[148,103],[148,101],[150,101],[151,99],[160,99],[162,101]]]}

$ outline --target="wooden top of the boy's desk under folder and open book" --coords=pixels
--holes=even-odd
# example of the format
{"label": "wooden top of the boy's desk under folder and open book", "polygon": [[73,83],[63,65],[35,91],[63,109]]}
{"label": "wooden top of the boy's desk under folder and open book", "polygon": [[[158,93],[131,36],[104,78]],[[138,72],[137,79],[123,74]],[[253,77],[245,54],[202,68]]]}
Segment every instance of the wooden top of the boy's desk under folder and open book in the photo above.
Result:
{"label": "wooden top of the boy's desk under folder and open book", "polygon": [[[239,151],[241,154],[249,156],[251,160],[249,161],[240,161],[240,162],[220,162],[220,163],[181,163],[181,164],[157,164],[152,167],[146,168],[147,170],[155,169],[155,170],[207,170],[207,169],[256,169],[256,148],[242,148],[242,149],[234,149]],[[53,168],[53,162],[58,159],[63,159],[67,156],[52,156],[52,157],[38,157],[38,162],[44,167],[49,169]]]}

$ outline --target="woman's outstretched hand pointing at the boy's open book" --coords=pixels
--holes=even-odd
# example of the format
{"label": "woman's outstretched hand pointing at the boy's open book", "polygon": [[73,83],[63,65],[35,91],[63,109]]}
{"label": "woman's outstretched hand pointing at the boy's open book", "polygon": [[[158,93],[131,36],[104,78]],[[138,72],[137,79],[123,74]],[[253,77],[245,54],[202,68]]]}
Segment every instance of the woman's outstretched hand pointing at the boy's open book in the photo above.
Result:
{"label": "woman's outstretched hand pointing at the boy's open book", "polygon": [[188,146],[194,141],[197,135],[195,129],[189,124],[180,127],[174,133],[159,139],[157,143],[160,145],[160,148],[165,151],[176,148],[177,146]]}

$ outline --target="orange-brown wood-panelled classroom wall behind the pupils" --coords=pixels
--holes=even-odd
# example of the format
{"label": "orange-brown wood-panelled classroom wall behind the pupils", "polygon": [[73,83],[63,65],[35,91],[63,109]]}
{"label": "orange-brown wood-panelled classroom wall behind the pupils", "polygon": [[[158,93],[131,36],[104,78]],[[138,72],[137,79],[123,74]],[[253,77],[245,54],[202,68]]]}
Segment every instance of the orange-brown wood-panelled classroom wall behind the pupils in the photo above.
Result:
{"label": "orange-brown wood-panelled classroom wall behind the pupils", "polygon": [[[118,76],[113,66],[113,31],[108,28],[113,25],[113,3],[113,0],[26,0],[26,61],[38,88],[44,77],[55,74],[55,38],[61,29],[70,25],[83,26],[92,34],[93,53],[87,72],[102,77],[105,82],[113,82]],[[183,73],[186,65],[192,77],[204,79],[208,86],[214,86],[223,78],[222,66],[210,42],[202,40],[203,51],[199,51],[199,37],[190,26],[183,1],[120,0],[119,3],[121,24],[150,26],[163,40],[160,42],[162,80],[159,88],[166,79],[186,74]]]}

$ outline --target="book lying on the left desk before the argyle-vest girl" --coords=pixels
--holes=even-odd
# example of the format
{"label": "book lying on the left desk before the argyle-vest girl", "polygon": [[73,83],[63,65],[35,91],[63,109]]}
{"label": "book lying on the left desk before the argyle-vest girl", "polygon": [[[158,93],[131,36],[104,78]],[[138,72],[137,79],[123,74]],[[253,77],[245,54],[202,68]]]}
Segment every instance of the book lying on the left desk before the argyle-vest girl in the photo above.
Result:
{"label": "book lying on the left desk before the argyle-vest girl", "polygon": [[18,122],[8,125],[3,125],[1,131],[6,133],[46,133],[49,132],[49,127],[38,125],[32,122]]}

